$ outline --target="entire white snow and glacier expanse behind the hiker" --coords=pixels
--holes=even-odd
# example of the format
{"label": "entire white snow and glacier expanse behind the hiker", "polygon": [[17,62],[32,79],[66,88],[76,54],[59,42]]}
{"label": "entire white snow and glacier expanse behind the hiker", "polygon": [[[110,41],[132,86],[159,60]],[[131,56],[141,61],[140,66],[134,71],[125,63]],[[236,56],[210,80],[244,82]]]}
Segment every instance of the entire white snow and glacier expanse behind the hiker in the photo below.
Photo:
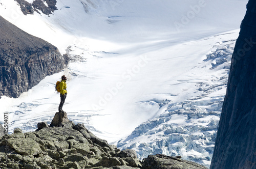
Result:
{"label": "entire white snow and glacier expanse behind the hiker", "polygon": [[116,144],[141,158],[163,153],[208,165],[246,3],[57,0],[53,15],[25,16],[0,0],[1,16],[73,61],[19,98],[2,97],[0,116],[9,112],[9,132],[50,123],[54,83],[66,74],[70,120],[109,142],[126,137]]}

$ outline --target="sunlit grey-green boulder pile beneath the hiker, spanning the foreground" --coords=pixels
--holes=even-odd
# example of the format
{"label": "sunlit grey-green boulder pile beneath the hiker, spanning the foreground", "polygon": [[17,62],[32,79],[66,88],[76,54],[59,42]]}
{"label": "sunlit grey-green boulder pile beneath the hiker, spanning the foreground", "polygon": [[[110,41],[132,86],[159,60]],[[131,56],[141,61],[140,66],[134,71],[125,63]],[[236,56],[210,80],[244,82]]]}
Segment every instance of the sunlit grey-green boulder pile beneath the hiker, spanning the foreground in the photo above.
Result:
{"label": "sunlit grey-green boulder pile beneath the hiker, spanning the foreground", "polygon": [[0,168],[205,168],[164,155],[149,156],[142,162],[134,150],[121,151],[109,145],[83,124],[70,121],[49,127],[42,122],[38,126],[41,129],[27,133],[15,129],[0,139]]}

